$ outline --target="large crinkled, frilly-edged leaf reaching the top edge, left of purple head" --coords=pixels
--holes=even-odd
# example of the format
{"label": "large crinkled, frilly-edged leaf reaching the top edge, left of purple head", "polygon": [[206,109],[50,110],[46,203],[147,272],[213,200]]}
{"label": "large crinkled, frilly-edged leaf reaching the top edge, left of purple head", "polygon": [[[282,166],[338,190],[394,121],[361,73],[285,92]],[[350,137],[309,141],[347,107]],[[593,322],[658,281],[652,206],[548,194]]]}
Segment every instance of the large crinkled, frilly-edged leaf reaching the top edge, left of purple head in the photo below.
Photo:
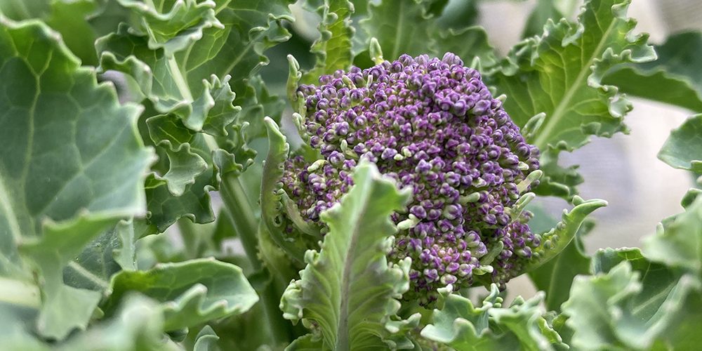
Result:
{"label": "large crinkled, frilly-edged leaf reaching the top edge, left of purple head", "polygon": [[[147,182],[147,233],[162,232],[182,217],[211,222],[208,192],[223,173],[251,164],[246,122],[258,133],[263,117],[246,114],[237,121],[239,107],[232,104],[257,109],[269,103],[265,88],[251,90],[246,79],[267,64],[266,48],[289,38],[280,22],[292,20],[290,2],[119,1],[135,20],[122,22],[96,47],[100,70],[128,75],[150,107],[143,119],[162,161]],[[232,90],[245,93],[235,97]]]}

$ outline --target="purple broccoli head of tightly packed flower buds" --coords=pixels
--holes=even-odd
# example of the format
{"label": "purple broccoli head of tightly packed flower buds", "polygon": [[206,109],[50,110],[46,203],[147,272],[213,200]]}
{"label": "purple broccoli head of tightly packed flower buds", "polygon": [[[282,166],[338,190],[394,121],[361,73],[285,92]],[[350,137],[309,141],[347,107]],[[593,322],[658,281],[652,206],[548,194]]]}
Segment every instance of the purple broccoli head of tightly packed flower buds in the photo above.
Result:
{"label": "purple broccoli head of tightly packed flower buds", "polygon": [[399,232],[390,258],[412,259],[404,298],[428,305],[449,284],[503,286],[519,274],[539,238],[526,224],[531,213],[515,211],[520,192],[536,183],[517,185],[538,168],[539,151],[475,69],[452,53],[402,55],[298,92],[301,134],[322,159],[292,157],[282,181],[307,222],[319,225],[365,158],[413,189],[406,213],[392,217]]}

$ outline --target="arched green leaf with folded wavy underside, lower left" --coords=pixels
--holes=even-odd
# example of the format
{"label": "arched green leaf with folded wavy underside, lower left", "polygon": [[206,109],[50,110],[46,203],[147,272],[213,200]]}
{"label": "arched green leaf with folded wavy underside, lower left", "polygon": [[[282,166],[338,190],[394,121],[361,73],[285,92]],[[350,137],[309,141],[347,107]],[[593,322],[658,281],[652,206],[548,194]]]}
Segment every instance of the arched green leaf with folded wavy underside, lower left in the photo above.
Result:
{"label": "arched green leaf with folded wavy underside, lower left", "polygon": [[241,314],[258,301],[241,268],[207,258],[121,271],[111,289],[108,313],[126,293],[138,291],[161,303],[165,331]]}

